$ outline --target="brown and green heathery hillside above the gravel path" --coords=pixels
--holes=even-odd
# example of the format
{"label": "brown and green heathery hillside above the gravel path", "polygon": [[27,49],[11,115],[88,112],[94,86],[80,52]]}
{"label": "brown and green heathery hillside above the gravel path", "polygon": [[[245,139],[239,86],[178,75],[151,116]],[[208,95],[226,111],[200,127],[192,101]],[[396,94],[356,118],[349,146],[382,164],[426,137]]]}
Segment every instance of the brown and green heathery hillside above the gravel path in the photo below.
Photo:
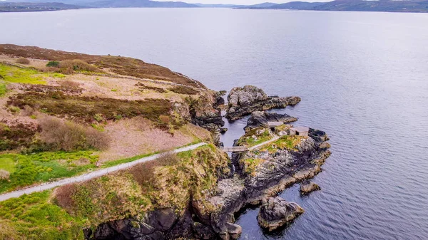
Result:
{"label": "brown and green heathery hillside above the gravel path", "polygon": [[0,193],[210,142],[188,106],[208,93],[133,58],[0,45]]}

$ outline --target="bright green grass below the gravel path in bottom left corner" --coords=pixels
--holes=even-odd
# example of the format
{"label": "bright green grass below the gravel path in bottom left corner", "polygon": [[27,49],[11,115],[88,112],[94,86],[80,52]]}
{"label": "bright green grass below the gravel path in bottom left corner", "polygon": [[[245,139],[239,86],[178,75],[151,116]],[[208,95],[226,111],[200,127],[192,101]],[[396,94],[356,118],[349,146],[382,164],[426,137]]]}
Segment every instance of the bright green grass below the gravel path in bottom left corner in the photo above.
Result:
{"label": "bright green grass below the gravel path in bottom left corner", "polygon": [[84,221],[52,204],[50,195],[37,192],[0,202],[0,239],[83,239]]}

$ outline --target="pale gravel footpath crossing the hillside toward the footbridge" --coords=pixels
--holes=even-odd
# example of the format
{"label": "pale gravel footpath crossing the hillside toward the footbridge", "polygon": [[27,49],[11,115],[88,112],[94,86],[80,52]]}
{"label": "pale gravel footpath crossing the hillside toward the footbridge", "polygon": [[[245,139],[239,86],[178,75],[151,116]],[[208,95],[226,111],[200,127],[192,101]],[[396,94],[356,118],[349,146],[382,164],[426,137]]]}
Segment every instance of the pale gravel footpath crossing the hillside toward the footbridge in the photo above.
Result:
{"label": "pale gravel footpath crossing the hillside toward the footbridge", "polygon": [[[173,150],[171,152],[175,152],[175,153],[185,152],[185,151],[188,151],[188,150],[194,150],[194,149],[196,149],[196,148],[198,148],[200,146],[203,146],[203,145],[206,145],[206,143],[205,142],[200,142],[198,144],[194,144],[194,145],[190,145],[190,146],[187,146],[187,147],[178,148],[178,149]],[[71,183],[75,183],[75,182],[88,181],[89,179],[93,179],[93,178],[96,178],[96,177],[101,177],[101,176],[109,174],[111,172],[116,172],[118,170],[122,170],[122,169],[127,169],[129,167],[133,167],[134,165],[138,165],[139,163],[142,163],[142,162],[148,162],[148,161],[156,160],[158,157],[161,157],[161,155],[162,154],[159,153],[159,154],[156,154],[156,155],[151,155],[149,157],[143,157],[143,158],[141,158],[139,160],[135,160],[133,162],[127,162],[127,163],[123,163],[121,165],[117,165],[117,166],[113,166],[113,167],[108,167],[108,168],[105,168],[105,169],[99,169],[99,170],[96,170],[96,171],[93,171],[93,172],[90,172],[90,173],[87,173],[87,174],[78,175],[76,177],[69,177],[69,178],[62,179],[62,180],[59,180],[59,181],[56,181],[56,182],[44,183],[44,184],[41,184],[41,185],[36,186],[36,187],[29,187],[27,189],[22,189],[22,190],[18,190],[18,191],[14,191],[14,192],[9,192],[9,193],[6,193],[6,194],[1,194],[0,195],[0,202],[4,201],[4,200],[7,200],[7,199],[11,199],[13,197],[20,197],[21,195],[24,195],[24,194],[31,194],[32,192],[42,192],[44,190],[52,189],[54,187],[59,187],[59,186],[63,186],[63,185],[66,185],[66,184],[71,184]]]}

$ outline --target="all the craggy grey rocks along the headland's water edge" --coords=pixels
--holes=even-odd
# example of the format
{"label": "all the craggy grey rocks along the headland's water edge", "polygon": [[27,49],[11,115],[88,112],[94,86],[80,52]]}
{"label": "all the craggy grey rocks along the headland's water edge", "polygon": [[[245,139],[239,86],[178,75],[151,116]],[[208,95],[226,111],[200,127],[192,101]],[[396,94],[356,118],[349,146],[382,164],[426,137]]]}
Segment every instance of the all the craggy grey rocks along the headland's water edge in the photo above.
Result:
{"label": "all the craggy grey rocks along the headland's water edge", "polygon": [[[193,123],[214,135],[219,135],[224,125],[219,108],[224,101],[219,98],[220,94],[214,93],[198,103],[190,103]],[[236,120],[252,114],[245,127],[247,133],[235,145],[254,143],[263,137],[279,136],[278,140],[258,150],[233,154],[229,167],[235,172],[221,176],[217,188],[205,199],[190,196],[184,212],[156,209],[143,219],[110,221],[96,229],[86,229],[86,239],[238,239],[242,229],[234,223],[235,214],[250,205],[262,205],[258,219],[264,229],[276,229],[302,214],[304,210],[297,204],[272,197],[321,172],[330,156],[327,134],[309,128],[307,136],[296,136],[290,131],[291,125],[275,130],[267,126],[272,120],[285,123],[297,119],[260,110],[295,105],[300,101],[298,97],[267,97],[263,90],[245,86],[234,88],[228,100],[226,118]]]}

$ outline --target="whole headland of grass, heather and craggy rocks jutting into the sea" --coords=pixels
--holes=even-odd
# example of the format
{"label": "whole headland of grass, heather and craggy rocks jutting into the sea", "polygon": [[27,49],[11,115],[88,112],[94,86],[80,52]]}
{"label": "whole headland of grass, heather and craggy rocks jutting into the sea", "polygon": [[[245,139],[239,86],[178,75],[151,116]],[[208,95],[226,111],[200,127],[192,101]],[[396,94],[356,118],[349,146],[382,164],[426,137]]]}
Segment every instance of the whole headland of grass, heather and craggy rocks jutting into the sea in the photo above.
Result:
{"label": "whole headland of grass, heather and craggy rocks jutting into the sea", "polygon": [[[295,135],[286,123],[296,118],[265,112],[300,98],[255,86],[233,88],[225,106],[224,91],[151,63],[12,45],[0,45],[0,73],[0,158],[16,166],[0,191],[207,143],[0,202],[0,239],[237,239],[235,214],[245,207],[262,206],[265,229],[301,214],[275,197],[314,177],[330,155],[325,132]],[[220,109],[229,120],[251,114],[235,141],[246,151],[232,157],[216,147],[226,131]],[[284,124],[272,128],[271,121]],[[57,129],[65,133],[51,132]],[[83,137],[70,141],[76,132]]]}

